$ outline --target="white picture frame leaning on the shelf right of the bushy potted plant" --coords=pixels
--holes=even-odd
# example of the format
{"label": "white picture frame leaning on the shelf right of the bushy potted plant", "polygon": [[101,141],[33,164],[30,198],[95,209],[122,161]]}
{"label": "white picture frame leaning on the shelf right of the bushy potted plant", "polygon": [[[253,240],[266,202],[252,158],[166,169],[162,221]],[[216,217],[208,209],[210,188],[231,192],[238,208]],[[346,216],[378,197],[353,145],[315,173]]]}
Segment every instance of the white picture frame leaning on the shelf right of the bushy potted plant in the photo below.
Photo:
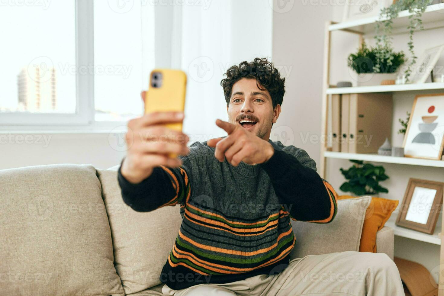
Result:
{"label": "white picture frame leaning on the shelf right of the bushy potted plant", "polygon": [[413,67],[412,82],[425,83],[444,50],[444,44],[426,49]]}

